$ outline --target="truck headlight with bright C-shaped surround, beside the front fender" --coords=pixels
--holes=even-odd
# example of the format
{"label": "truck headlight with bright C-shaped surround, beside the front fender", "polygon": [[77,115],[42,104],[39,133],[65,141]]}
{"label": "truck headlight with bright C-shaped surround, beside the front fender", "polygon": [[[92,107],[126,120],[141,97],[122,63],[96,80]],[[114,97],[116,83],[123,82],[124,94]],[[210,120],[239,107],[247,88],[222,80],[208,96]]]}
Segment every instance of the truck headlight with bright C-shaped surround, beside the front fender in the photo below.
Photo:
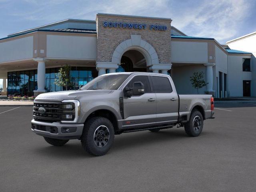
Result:
{"label": "truck headlight with bright C-shaped surround, beside the front fender", "polygon": [[[62,123],[76,123],[80,116],[80,102],[78,100],[63,100],[62,109],[65,114],[62,115]],[[67,103],[67,104],[65,104]]]}

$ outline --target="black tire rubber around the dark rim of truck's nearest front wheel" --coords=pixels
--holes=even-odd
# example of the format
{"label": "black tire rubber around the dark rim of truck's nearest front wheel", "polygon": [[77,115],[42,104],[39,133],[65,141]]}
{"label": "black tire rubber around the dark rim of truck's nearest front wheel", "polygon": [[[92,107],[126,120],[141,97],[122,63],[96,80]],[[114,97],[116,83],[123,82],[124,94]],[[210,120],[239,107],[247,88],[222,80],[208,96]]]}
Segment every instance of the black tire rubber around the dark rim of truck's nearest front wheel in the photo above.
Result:
{"label": "black tire rubber around the dark rim of truck's nearest front wheel", "polygon": [[[104,146],[97,146],[97,144],[94,142],[94,140],[96,140],[94,137],[96,130],[100,126],[106,126],[108,128],[109,138],[108,142]],[[82,147],[89,154],[94,156],[102,156],[110,150],[114,142],[114,136],[114,126],[110,120],[104,117],[92,117],[89,120],[86,120],[84,124],[84,130],[81,136]]]}

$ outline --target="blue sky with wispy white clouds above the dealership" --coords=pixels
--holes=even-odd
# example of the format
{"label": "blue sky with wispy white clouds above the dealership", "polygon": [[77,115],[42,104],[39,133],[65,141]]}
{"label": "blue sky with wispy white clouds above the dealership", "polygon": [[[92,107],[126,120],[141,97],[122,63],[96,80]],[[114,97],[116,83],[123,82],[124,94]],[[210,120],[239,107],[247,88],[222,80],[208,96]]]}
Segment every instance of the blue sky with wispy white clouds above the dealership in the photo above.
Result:
{"label": "blue sky with wispy white clouds above the dealership", "polygon": [[95,20],[97,13],[171,18],[186,35],[220,44],[256,31],[255,0],[0,0],[0,38],[67,18]]}

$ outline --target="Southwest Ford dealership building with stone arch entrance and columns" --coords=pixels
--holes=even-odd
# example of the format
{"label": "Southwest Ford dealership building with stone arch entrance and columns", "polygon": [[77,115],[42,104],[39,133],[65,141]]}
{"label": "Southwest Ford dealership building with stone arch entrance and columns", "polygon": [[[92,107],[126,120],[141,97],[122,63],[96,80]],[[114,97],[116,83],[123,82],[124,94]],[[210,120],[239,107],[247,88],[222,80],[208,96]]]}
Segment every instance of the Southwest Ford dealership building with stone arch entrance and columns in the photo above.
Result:
{"label": "Southwest Ford dealership building with stone arch entrance and columns", "polygon": [[179,94],[195,94],[190,76],[204,72],[200,94],[256,96],[256,32],[221,45],[171,22],[99,13],[95,21],[67,19],[9,34],[0,39],[2,94],[60,91],[56,73],[68,64],[74,89],[102,74],[138,71],[169,74]]}

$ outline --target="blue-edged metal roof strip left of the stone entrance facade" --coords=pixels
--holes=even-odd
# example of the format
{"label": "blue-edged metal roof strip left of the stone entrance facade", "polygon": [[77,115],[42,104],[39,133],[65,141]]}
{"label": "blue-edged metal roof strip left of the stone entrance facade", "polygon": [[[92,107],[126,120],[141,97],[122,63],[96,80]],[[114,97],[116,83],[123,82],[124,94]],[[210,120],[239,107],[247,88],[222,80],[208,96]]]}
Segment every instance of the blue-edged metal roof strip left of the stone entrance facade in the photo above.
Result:
{"label": "blue-edged metal roof strip left of the stone entrance facade", "polygon": [[9,39],[9,38],[12,38],[12,37],[25,35],[25,34],[37,32],[37,31],[97,34],[96,30],[92,30],[92,29],[88,29],[88,30],[86,30],[86,29],[36,29],[36,30],[20,33],[20,34],[17,34],[17,35],[4,37],[4,38],[1,38],[0,40]]}

